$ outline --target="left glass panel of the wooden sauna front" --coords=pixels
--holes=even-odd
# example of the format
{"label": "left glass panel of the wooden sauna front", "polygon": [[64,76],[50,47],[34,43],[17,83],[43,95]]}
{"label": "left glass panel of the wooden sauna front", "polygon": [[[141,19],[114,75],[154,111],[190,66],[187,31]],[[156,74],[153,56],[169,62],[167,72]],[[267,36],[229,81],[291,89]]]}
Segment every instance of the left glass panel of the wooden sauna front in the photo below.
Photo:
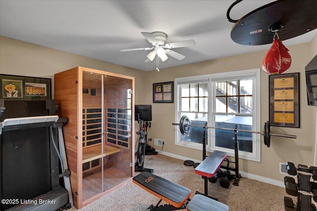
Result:
{"label": "left glass panel of the wooden sauna front", "polygon": [[82,165],[83,201],[102,193],[103,187],[103,76],[83,72]]}

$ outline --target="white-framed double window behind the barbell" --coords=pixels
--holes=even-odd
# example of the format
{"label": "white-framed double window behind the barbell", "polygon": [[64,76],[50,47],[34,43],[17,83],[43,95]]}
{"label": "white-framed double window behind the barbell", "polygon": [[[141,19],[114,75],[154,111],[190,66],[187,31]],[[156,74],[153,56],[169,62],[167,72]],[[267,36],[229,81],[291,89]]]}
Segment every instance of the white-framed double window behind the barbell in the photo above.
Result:
{"label": "white-framed double window behind the barbell", "polygon": [[[260,69],[175,79],[177,85],[176,117],[188,116],[191,125],[209,128],[207,150],[221,150],[234,155],[234,128],[259,131]],[[203,127],[190,127],[188,134],[175,135],[175,144],[202,149]],[[210,137],[210,138],[208,138]],[[261,135],[238,132],[239,157],[260,161]]]}

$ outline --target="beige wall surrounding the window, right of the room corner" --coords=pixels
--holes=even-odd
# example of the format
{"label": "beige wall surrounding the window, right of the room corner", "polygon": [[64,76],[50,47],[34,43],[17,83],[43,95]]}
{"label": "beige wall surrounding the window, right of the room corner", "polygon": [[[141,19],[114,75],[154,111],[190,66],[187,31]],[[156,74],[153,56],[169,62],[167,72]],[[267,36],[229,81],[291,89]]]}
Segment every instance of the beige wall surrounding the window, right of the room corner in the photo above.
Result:
{"label": "beige wall surrounding the window, right of the room corner", "polygon": [[[315,38],[316,40],[316,38]],[[283,181],[285,175],[279,174],[279,163],[286,161],[312,166],[314,163],[316,107],[307,105],[305,66],[311,58],[312,43],[287,46],[292,57],[292,65],[285,73],[300,72],[300,128],[271,127],[271,132],[297,135],[297,139],[271,136],[271,147],[267,148],[261,138],[261,163],[239,160],[240,170],[271,179]],[[147,74],[146,86],[153,83],[174,81],[175,78],[205,75],[261,68],[267,50],[256,53],[236,55],[184,66],[160,69]],[[261,71],[261,125],[268,120],[268,75]],[[152,93],[146,93],[147,103],[153,106],[153,122],[149,136],[165,139],[163,150],[168,153],[201,160],[202,151],[174,144],[174,132],[178,127],[171,124],[175,119],[175,105],[152,103]],[[176,100],[176,99],[174,99]],[[313,115],[312,115],[313,114]],[[160,149],[160,147],[157,147]],[[231,160],[233,160],[231,158]]]}

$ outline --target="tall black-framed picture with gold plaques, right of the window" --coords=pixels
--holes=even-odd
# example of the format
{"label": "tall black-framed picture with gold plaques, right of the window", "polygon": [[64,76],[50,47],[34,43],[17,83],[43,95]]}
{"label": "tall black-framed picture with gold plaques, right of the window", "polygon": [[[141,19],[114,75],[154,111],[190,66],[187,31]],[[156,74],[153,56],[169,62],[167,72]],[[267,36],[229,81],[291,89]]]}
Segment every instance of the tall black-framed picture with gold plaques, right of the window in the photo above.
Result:
{"label": "tall black-framed picture with gold plaques, right of the window", "polygon": [[270,125],[300,127],[299,73],[270,75],[268,81]]}

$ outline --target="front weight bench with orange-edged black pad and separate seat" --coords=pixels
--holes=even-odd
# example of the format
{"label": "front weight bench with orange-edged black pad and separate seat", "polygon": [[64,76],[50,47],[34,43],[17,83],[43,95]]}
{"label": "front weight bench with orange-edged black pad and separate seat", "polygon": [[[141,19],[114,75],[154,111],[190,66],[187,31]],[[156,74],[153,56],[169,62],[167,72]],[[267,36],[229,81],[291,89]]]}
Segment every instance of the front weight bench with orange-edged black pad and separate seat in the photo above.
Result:
{"label": "front weight bench with orange-edged black pad and separate seat", "polygon": [[[187,211],[229,210],[228,206],[203,195],[196,195],[191,199],[191,191],[188,188],[153,173],[144,171],[133,177],[133,182],[160,198],[159,203],[156,206],[151,205],[146,211],[174,211],[185,208]],[[162,200],[169,204],[159,205]]]}

